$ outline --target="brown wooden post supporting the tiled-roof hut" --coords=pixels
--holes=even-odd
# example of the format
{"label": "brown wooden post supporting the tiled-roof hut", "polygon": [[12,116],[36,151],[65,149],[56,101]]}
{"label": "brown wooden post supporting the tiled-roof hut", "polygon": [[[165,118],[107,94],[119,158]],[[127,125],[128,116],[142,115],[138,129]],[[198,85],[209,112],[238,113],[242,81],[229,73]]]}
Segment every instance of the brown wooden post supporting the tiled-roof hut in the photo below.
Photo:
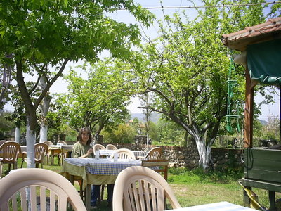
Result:
{"label": "brown wooden post supporting the tiled-roof hut", "polygon": [[254,86],[251,84],[249,70],[246,68],[246,98],[244,110],[244,148],[253,147]]}

